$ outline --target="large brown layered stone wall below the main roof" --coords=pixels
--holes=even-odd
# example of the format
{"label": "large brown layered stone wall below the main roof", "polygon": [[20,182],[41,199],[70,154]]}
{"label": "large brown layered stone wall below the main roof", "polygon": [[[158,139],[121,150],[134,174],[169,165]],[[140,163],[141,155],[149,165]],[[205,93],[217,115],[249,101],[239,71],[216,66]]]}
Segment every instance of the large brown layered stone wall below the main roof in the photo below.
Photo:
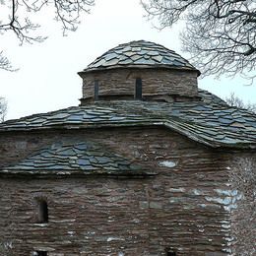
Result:
{"label": "large brown layered stone wall below the main roof", "polygon": [[[156,177],[0,178],[0,244],[10,255],[218,256],[229,245],[230,157],[163,128],[0,135],[0,166],[64,139],[90,140],[153,168]],[[36,224],[36,199],[49,223]],[[229,248],[230,246],[230,248]],[[1,251],[1,247],[0,247]],[[122,254],[119,254],[122,255]]]}

